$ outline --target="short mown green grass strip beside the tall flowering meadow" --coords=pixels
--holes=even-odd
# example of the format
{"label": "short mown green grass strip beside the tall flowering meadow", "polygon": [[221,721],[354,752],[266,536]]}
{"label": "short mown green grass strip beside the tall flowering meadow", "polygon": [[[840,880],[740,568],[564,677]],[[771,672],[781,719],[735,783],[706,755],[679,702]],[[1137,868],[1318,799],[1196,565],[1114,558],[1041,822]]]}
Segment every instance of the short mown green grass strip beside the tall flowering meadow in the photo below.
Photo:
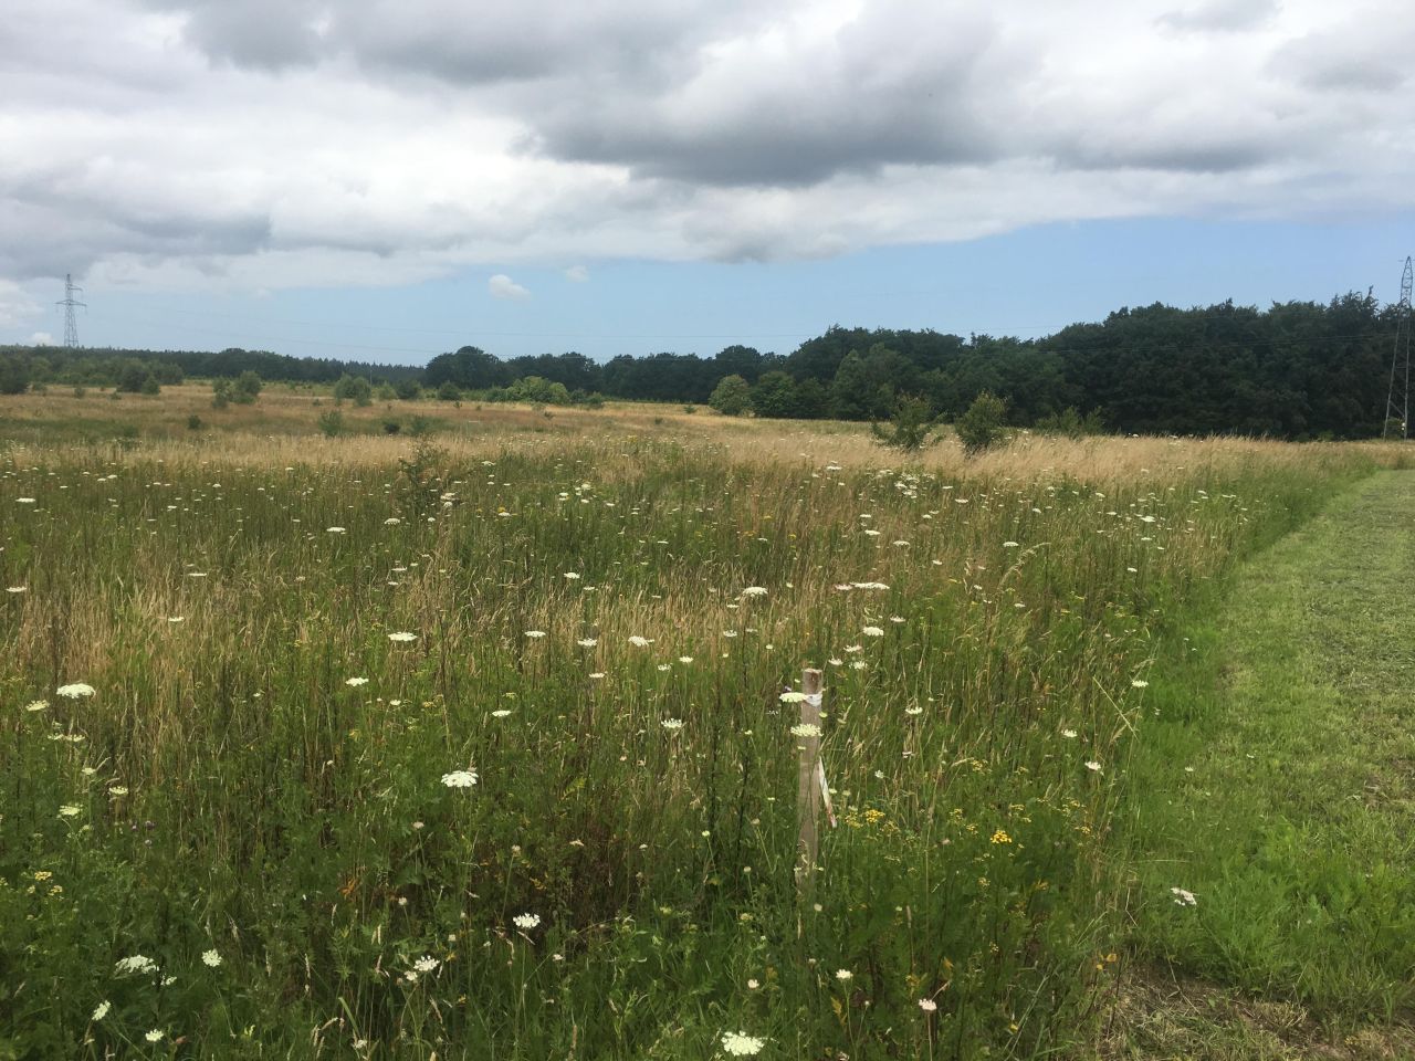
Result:
{"label": "short mown green grass strip beside the tall flowering meadow", "polygon": [[1415,1057],[1415,472],[1341,494],[1184,634],[1128,770],[1115,1053]]}

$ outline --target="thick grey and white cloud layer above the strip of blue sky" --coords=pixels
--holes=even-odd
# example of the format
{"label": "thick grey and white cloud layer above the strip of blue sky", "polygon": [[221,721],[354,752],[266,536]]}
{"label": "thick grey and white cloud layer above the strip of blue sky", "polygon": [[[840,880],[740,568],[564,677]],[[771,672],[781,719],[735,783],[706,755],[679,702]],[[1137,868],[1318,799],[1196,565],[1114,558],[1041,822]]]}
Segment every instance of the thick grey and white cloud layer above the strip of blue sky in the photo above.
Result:
{"label": "thick grey and white cloud layer above the strip of blue sky", "polygon": [[67,272],[252,291],[1415,208],[1398,0],[460,8],[10,0],[0,324]]}

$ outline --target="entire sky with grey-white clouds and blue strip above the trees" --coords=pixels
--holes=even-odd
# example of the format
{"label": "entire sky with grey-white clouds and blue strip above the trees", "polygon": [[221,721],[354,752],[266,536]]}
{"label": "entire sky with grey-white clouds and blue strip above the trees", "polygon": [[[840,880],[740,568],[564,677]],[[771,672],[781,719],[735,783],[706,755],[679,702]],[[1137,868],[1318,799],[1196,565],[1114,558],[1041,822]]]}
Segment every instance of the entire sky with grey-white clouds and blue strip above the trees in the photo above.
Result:
{"label": "entire sky with grey-white clouds and blue strip above the trees", "polygon": [[788,351],[1394,300],[1407,0],[0,0],[0,341]]}

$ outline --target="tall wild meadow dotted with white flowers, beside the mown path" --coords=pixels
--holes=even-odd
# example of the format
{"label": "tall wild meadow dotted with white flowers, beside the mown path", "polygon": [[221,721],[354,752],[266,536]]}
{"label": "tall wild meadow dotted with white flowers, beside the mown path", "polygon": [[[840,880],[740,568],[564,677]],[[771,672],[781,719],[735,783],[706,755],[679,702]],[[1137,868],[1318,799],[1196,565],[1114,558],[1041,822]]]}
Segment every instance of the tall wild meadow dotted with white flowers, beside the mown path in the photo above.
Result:
{"label": "tall wild meadow dotted with white flowers, beside the mown path", "polygon": [[317,400],[0,406],[0,1057],[1091,1055],[1166,638],[1402,460]]}

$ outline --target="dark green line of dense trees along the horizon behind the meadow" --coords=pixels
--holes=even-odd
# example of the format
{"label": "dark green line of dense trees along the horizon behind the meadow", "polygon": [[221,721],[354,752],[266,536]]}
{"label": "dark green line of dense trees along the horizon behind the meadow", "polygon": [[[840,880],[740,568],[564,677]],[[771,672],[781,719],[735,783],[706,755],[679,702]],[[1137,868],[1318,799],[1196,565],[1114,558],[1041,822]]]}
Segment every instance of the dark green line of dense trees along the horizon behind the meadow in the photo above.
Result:
{"label": "dark green line of dense trees along the horizon behind the meadow", "polygon": [[952,419],[990,392],[1019,426],[1074,412],[1128,433],[1368,437],[1382,429],[1395,313],[1370,293],[1268,310],[1156,303],[1036,340],[833,327],[787,355],[733,345],[713,356],[620,355],[603,365],[576,352],[504,361],[470,345],[422,369],[242,349],[4,347],[0,393],[48,383],[151,390],[184,376],[256,372],[291,382],[365,378],[403,399],[422,388],[441,398],[552,403],[607,395],[758,416],[879,420],[906,398]]}

